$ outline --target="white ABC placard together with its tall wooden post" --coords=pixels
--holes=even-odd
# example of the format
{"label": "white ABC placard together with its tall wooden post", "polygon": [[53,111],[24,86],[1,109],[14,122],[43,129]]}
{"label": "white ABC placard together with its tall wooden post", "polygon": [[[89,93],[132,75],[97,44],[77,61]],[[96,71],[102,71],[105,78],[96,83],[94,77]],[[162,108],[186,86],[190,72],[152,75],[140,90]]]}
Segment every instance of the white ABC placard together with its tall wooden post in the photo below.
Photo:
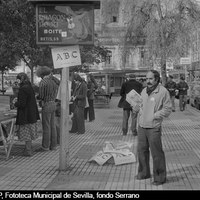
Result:
{"label": "white ABC placard together with its tall wooden post", "polygon": [[69,168],[69,67],[81,65],[81,56],[78,45],[55,47],[51,51],[54,68],[62,68],[59,170],[64,171]]}

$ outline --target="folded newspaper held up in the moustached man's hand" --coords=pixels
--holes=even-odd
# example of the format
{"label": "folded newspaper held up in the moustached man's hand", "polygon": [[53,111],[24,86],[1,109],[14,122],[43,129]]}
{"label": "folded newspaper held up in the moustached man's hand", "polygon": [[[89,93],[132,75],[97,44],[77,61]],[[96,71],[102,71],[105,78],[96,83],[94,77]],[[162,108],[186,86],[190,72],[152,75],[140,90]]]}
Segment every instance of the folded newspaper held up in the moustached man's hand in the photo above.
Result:
{"label": "folded newspaper held up in the moustached man's hand", "polygon": [[133,112],[139,111],[142,98],[134,89],[126,95],[126,101],[131,105]]}

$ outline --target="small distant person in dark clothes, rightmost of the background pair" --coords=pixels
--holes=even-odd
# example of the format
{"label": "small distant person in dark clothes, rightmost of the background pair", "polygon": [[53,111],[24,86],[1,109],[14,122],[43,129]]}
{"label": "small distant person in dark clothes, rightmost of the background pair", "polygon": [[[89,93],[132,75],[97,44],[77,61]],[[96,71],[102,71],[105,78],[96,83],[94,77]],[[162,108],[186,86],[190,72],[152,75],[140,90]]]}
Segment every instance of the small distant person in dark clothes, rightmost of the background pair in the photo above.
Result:
{"label": "small distant person in dark clothes, rightmost of the background pair", "polygon": [[180,82],[177,84],[177,90],[179,95],[179,108],[180,111],[184,111],[187,104],[187,90],[189,89],[188,84],[185,81],[185,77],[180,77]]}

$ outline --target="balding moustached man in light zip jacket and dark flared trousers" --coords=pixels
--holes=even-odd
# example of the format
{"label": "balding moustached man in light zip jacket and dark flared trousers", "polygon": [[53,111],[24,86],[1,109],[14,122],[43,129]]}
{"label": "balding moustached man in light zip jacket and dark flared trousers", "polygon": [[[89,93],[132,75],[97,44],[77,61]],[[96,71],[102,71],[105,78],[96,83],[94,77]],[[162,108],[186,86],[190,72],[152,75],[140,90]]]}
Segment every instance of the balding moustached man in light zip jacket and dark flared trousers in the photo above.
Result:
{"label": "balding moustached man in light zip jacket and dark flared trousers", "polygon": [[[166,182],[166,161],[161,141],[161,126],[164,117],[171,113],[169,92],[160,84],[160,74],[151,70],[146,75],[147,87],[143,89],[142,106],[138,127],[138,180],[151,177],[149,155],[153,158],[153,183]],[[150,149],[150,151],[149,151]]]}

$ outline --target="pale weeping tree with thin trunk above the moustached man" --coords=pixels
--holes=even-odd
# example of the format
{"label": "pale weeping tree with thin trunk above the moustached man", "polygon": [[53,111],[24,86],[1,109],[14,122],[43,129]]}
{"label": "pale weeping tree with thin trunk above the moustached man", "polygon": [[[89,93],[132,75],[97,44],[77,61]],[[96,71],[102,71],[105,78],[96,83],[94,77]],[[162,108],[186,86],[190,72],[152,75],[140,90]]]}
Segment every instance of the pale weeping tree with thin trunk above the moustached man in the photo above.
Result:
{"label": "pale weeping tree with thin trunk above the moustached man", "polygon": [[125,54],[133,46],[144,45],[149,59],[160,60],[163,84],[166,60],[187,56],[191,34],[197,28],[200,7],[193,0],[136,0],[125,36]]}

